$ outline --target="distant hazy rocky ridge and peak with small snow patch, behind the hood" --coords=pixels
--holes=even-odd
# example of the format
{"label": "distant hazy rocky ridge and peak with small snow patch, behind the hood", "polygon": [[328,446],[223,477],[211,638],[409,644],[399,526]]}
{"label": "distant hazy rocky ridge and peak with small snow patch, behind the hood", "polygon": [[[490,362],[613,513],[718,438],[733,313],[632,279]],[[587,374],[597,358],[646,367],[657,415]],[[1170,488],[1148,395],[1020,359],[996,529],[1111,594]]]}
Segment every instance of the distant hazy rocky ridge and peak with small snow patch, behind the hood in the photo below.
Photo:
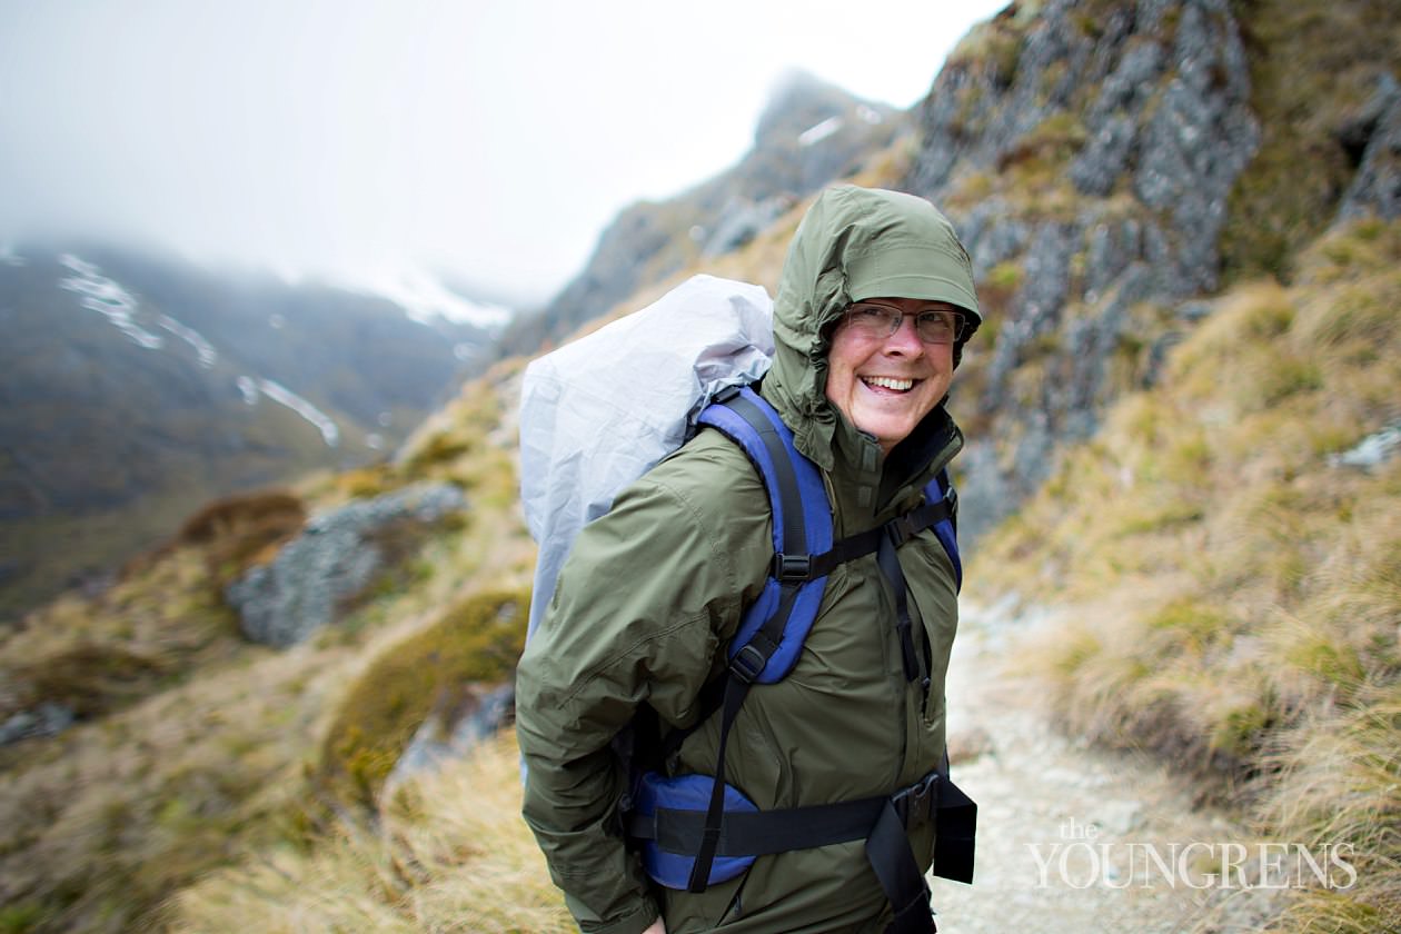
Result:
{"label": "distant hazy rocky ridge and peak with small snow patch, behind the hood", "polygon": [[908,129],[898,111],[790,74],[738,164],[667,202],[623,210],[598,238],[584,270],[541,314],[514,322],[500,351],[528,354],[558,343],[640,286],[744,246],[803,197],[859,171]]}

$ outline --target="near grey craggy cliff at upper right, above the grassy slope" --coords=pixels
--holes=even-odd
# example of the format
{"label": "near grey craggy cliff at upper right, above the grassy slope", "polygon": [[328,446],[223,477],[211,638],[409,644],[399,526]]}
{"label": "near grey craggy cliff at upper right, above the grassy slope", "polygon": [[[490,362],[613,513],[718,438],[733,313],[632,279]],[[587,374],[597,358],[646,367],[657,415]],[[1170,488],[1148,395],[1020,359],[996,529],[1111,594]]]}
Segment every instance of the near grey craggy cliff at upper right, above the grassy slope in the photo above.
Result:
{"label": "near grey craggy cliff at upper right, above the grassy slope", "polygon": [[[1210,314],[1223,266],[1288,276],[1223,246],[1233,223],[1233,244],[1255,232],[1243,225],[1264,224],[1248,203],[1269,188],[1257,157],[1283,136],[1267,66],[1285,43],[1258,28],[1271,6],[1014,3],[964,41],[919,106],[923,143],[901,186],[948,211],[991,325],[953,403],[969,437],[967,538],[1013,513],[1063,445],[1094,433],[1110,399],[1153,382],[1166,347]],[[1393,8],[1377,25],[1395,22]],[[1325,199],[1323,218],[1293,223],[1397,216],[1394,67],[1363,62],[1346,84],[1296,74],[1295,108],[1317,119],[1355,88],[1374,91],[1362,108],[1339,106],[1316,140],[1314,162],[1351,150],[1338,174],[1355,174],[1346,193]]]}

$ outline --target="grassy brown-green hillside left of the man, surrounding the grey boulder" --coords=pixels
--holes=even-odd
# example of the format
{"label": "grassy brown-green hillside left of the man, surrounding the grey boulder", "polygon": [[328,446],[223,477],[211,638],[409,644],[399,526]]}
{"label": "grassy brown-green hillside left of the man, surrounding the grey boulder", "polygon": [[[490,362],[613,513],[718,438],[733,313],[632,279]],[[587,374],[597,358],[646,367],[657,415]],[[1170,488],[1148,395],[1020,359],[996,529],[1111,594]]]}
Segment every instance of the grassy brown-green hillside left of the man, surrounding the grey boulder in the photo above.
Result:
{"label": "grassy brown-green hillside left of the man, surrounding the grey boulder", "polygon": [[[437,686],[499,682],[518,654],[534,550],[516,515],[513,403],[497,398],[510,378],[468,386],[396,463],[210,507],[111,590],[0,637],[0,720],[43,702],[78,717],[0,748],[0,931],[153,930],[161,903],[212,870],[368,826],[385,763],[444,700]],[[462,486],[465,524],[310,643],[242,640],[224,581],[268,560],[303,513],[416,480]],[[495,667],[474,646],[496,646]],[[409,654],[436,679],[395,665]]]}

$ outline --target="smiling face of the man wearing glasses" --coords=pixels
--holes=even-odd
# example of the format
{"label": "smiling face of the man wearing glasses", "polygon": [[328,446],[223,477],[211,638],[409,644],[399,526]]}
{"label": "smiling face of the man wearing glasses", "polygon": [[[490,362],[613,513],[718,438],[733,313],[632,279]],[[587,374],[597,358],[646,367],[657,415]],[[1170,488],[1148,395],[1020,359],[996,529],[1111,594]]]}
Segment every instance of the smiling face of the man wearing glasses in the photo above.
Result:
{"label": "smiling face of the man wearing glasses", "polygon": [[[827,398],[881,451],[905,440],[948,392],[954,377],[953,342],[926,343],[915,318],[926,311],[957,311],[923,298],[873,298],[873,305],[906,314],[894,333],[881,337],[874,322],[843,319],[832,333],[827,363]],[[864,302],[856,302],[859,307]]]}

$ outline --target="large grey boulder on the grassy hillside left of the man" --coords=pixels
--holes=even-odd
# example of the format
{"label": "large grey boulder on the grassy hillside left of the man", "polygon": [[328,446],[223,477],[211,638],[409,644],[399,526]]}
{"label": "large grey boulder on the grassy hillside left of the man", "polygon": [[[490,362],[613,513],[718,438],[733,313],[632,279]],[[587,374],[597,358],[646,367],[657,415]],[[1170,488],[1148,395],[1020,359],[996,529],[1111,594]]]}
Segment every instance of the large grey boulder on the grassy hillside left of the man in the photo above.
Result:
{"label": "large grey boulder on the grassy hillside left of the man", "polygon": [[335,622],[375,577],[402,557],[405,539],[467,507],[451,485],[416,485],[314,517],[270,564],[224,591],[244,634],[279,648]]}

